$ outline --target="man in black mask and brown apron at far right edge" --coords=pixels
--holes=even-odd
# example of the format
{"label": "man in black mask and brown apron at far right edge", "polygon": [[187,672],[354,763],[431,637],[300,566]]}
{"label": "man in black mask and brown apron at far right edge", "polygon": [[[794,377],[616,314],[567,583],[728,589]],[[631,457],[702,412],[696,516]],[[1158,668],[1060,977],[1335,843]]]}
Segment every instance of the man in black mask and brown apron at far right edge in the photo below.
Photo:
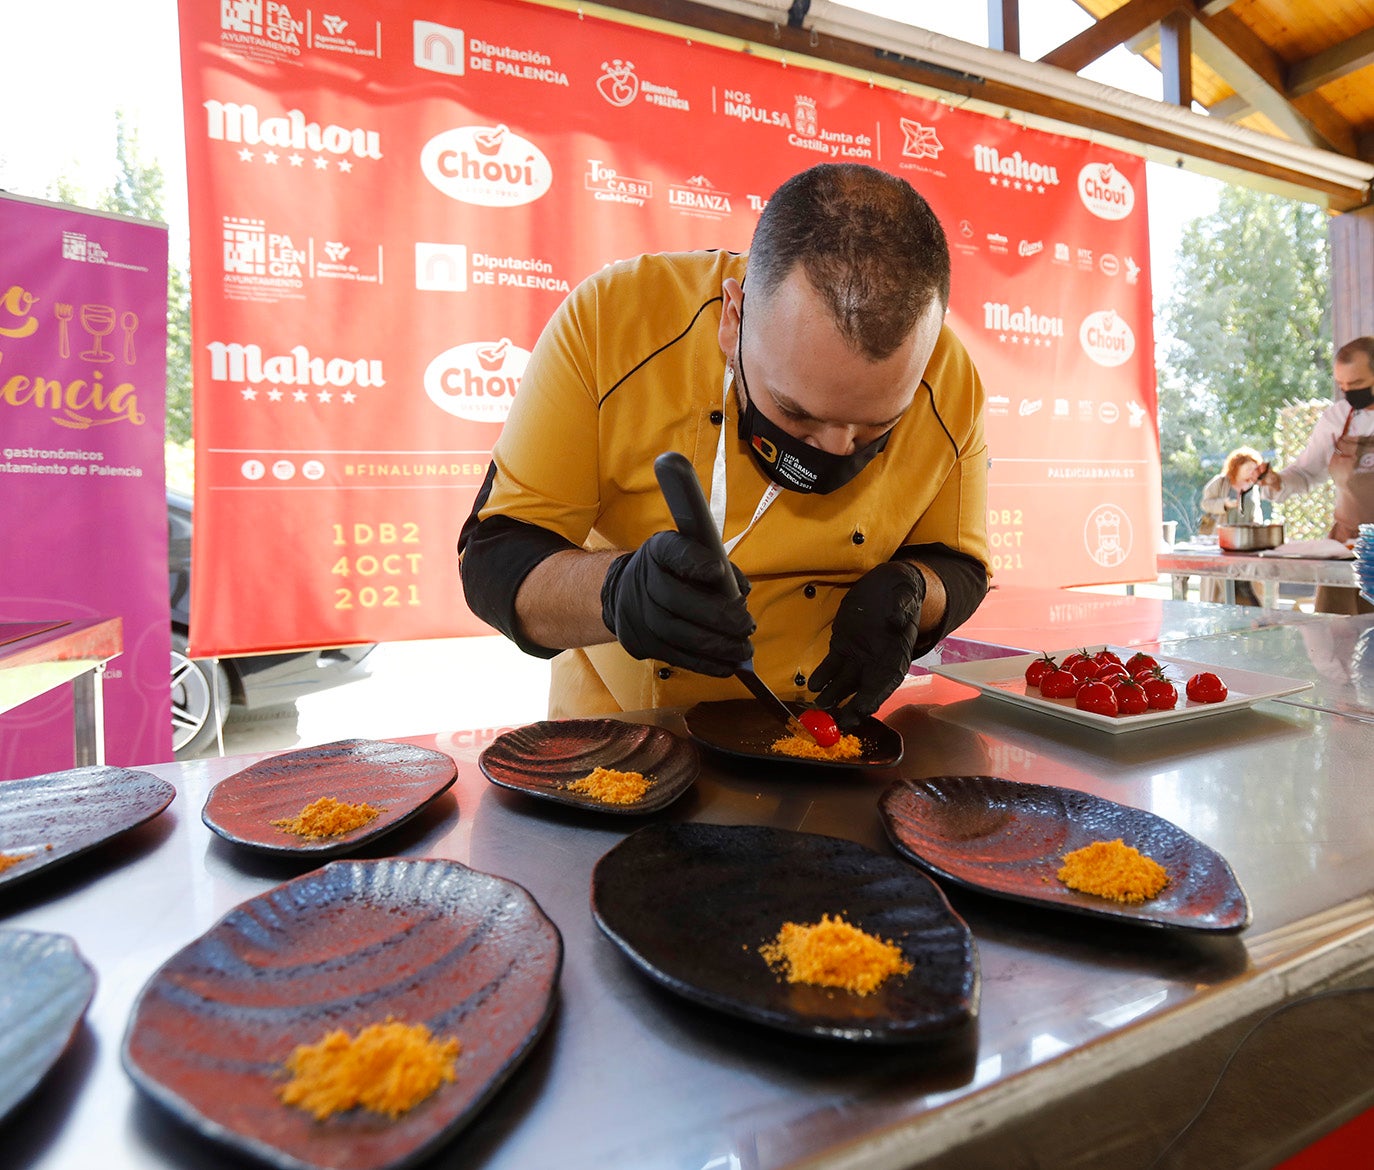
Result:
{"label": "man in black mask and brown apron at far right edge", "polygon": [[[1359,536],[1362,523],[1374,522],[1374,338],[1356,338],[1336,352],[1336,389],[1331,402],[1312,427],[1303,453],[1282,471],[1260,478],[1268,498],[1282,504],[1327,479],[1336,485],[1333,540]],[[1358,589],[1318,585],[1314,608],[1319,614],[1369,614],[1374,606]]]}

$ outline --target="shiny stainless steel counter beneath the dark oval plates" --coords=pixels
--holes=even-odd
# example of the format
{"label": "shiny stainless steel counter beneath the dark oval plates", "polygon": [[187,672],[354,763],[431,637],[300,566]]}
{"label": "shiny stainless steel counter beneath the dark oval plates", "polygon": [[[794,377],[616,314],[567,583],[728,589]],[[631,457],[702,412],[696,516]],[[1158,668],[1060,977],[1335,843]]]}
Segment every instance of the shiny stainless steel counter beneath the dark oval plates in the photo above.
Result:
{"label": "shiny stainless steel counter beneath the dark oval plates", "polygon": [[[1168,817],[1226,856],[1253,906],[1246,932],[1197,938],[1102,926],[951,888],[978,946],[977,1023],[954,1040],[897,1051],[807,1042],[666,994],[599,934],[589,873],[635,821],[537,805],[488,784],[475,758],[499,729],[416,737],[458,759],[458,783],[364,856],[448,857],[513,879],[566,943],[550,1033],[433,1165],[1146,1166],[1238,1045],[1261,1059],[1230,1066],[1223,1085],[1239,1093],[1223,1093],[1161,1166],[1274,1165],[1374,1104],[1370,994],[1307,998],[1369,985],[1374,971],[1374,726],[1366,721],[1374,718],[1374,618],[1270,614],[1254,623],[1249,611],[1241,626],[1216,618],[1187,636],[1189,622],[1208,621],[1191,611],[1224,611],[1112,600],[1110,619],[1094,629],[1070,622],[1065,644],[1120,641],[1098,637],[1103,626],[1129,626],[1140,645],[1168,633],[1164,652],[1223,674],[1234,665],[1311,677],[1318,689],[1294,698],[1326,710],[1268,702],[1110,736],[914,676],[885,709],[905,737],[897,768],[813,776],[708,758],[694,790],[660,817],[778,825],[888,850],[875,801],[897,776],[982,773],[1081,788]],[[1061,630],[1052,607],[1094,601],[1009,590],[989,604],[973,633],[1014,622],[1021,643],[1039,648]],[[1151,623],[1153,641],[1143,637]],[[682,729],[673,713],[642,718]],[[150,768],[179,790],[162,817],[0,905],[0,926],[70,934],[100,978],[74,1049],[5,1126],[5,1166],[240,1165],[140,1100],[118,1046],[133,997],[168,956],[238,902],[301,872],[242,853],[201,824],[209,788],[254,758]],[[1246,1037],[1274,1008],[1283,1011]],[[1267,1040],[1272,1057],[1264,1057]],[[1270,1067],[1282,1070],[1278,1104],[1261,1083]],[[1230,1151],[1221,1160],[1209,1154],[1217,1143]]]}

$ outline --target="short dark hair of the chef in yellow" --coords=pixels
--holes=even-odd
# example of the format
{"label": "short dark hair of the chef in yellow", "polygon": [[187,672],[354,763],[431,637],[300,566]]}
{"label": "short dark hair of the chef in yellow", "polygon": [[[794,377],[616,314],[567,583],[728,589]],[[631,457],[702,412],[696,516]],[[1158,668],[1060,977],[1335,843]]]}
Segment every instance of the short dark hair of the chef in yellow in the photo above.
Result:
{"label": "short dark hair of the chef in yellow", "polygon": [[747,284],[765,297],[801,265],[855,349],[890,354],[938,299],[949,303],[949,244],[904,179],[822,163],[768,199],[749,247]]}

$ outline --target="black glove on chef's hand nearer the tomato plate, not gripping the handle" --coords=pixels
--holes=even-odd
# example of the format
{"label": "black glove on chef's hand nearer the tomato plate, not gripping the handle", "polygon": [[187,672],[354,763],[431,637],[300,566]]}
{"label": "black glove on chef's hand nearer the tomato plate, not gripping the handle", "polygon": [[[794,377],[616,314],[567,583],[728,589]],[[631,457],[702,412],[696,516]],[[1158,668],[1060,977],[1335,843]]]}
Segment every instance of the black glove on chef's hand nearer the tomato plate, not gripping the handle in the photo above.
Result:
{"label": "black glove on chef's hand nearer the tomato plate, not gripping the handle", "polygon": [[849,586],[830,628],[830,652],[807,680],[841,728],[877,711],[907,677],[925,600],[926,580],[903,560],[870,569]]}

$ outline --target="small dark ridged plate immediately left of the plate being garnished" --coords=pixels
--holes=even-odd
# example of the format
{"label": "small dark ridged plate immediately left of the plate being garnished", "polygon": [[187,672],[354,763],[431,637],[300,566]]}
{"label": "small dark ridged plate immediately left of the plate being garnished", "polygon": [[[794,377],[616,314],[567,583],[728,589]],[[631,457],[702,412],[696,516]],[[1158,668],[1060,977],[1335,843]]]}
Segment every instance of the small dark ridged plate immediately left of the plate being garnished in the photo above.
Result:
{"label": "small dark ridged plate immediately left of the plate being garnished", "polygon": [[[578,809],[642,814],[668,807],[701,772],[695,744],[666,728],[621,720],[547,720],[496,736],[477,758],[493,784]],[[653,783],[639,801],[609,805],[567,785],[595,768],[639,772]]]}

